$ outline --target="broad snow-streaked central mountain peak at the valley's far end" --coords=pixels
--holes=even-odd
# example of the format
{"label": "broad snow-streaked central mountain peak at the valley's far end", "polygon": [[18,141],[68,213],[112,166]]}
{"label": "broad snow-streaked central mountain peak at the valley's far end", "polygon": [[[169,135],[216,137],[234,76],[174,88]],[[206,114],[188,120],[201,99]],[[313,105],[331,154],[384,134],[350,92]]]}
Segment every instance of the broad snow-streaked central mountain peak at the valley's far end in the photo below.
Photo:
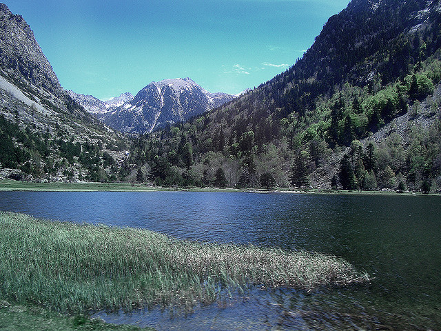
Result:
{"label": "broad snow-streaked central mountain peak at the valley's far end", "polygon": [[207,92],[189,78],[165,79],[148,84],[132,100],[97,116],[122,132],[152,132],[167,123],[187,121],[232,99],[230,94]]}

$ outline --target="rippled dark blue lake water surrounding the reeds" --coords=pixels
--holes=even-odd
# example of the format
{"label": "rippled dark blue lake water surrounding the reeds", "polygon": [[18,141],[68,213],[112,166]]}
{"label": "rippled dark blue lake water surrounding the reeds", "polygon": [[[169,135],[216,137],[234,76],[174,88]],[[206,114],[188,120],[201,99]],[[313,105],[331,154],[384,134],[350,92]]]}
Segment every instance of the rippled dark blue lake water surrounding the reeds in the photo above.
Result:
{"label": "rippled dark blue lake water surrounding the reeds", "polygon": [[371,284],[255,290],[192,314],[99,314],[157,330],[441,330],[441,197],[0,192],[0,210],[335,254]]}

